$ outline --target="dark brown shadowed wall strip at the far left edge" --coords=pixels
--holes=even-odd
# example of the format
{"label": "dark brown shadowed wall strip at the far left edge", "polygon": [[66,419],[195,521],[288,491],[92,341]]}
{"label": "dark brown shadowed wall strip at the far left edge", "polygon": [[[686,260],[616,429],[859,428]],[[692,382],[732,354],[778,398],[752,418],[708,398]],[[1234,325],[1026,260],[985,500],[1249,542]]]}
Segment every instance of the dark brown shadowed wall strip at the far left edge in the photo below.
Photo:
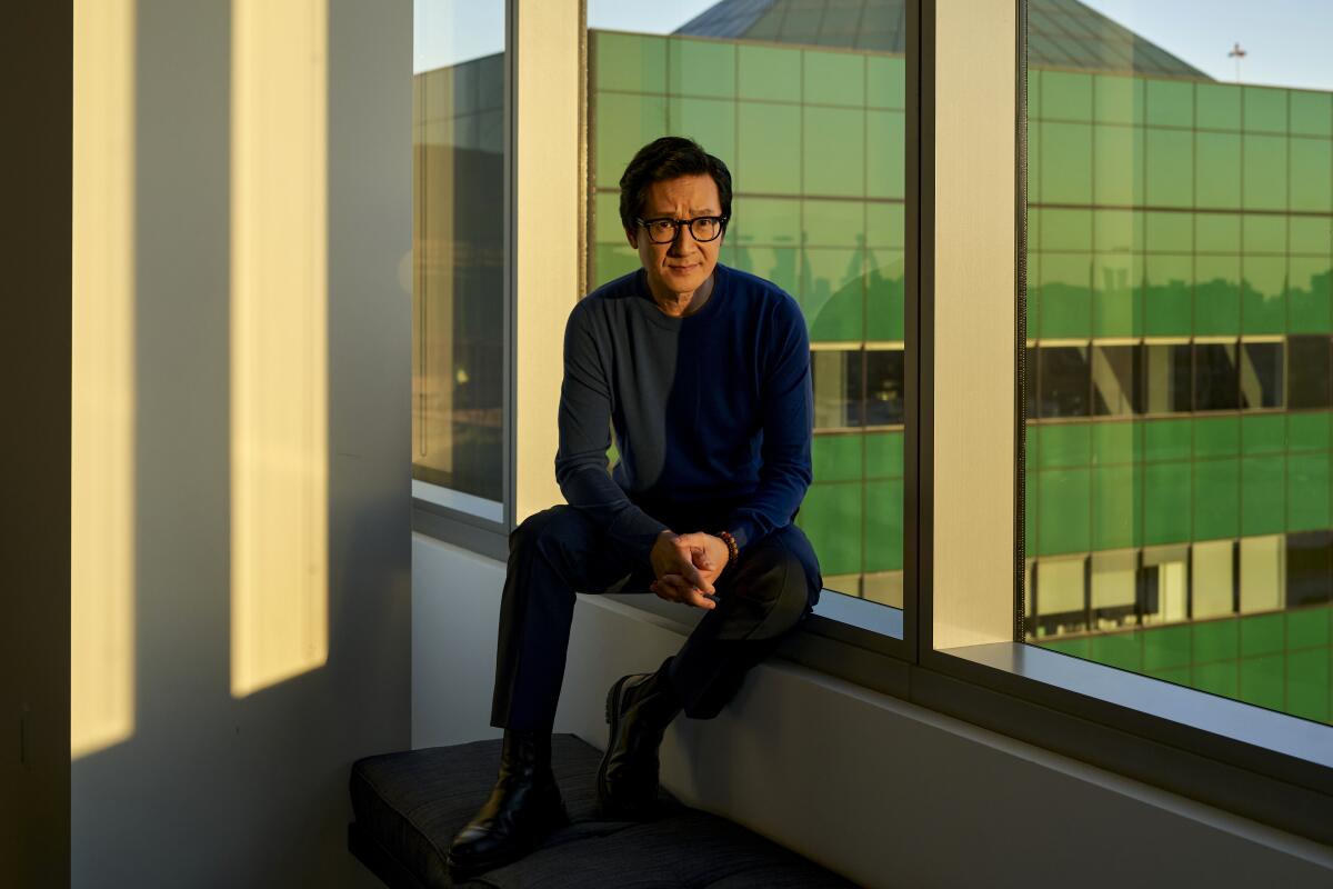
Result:
{"label": "dark brown shadowed wall strip at the far left edge", "polygon": [[[68,3],[5,11],[0,885],[69,884]],[[21,123],[20,123],[21,121]]]}

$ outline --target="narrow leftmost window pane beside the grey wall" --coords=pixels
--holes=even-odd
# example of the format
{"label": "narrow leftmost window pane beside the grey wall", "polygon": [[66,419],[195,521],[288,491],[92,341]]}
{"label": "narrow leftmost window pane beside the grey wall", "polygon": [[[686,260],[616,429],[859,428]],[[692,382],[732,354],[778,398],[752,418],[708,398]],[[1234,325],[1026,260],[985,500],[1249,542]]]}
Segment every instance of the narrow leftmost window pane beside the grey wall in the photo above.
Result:
{"label": "narrow leftmost window pane beside the grey wall", "polygon": [[499,521],[503,0],[419,0],[413,47],[412,477],[429,485],[419,496]]}

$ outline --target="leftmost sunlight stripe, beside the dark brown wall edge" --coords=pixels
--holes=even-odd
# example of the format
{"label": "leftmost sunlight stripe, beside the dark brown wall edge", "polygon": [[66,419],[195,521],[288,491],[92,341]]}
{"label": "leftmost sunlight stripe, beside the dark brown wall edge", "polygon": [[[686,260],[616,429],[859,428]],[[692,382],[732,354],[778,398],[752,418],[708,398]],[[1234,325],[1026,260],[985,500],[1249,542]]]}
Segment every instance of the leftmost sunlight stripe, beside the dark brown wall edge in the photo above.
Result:
{"label": "leftmost sunlight stripe, beside the dark brown wall edge", "polygon": [[73,5],[69,756],[135,730],[135,0]]}

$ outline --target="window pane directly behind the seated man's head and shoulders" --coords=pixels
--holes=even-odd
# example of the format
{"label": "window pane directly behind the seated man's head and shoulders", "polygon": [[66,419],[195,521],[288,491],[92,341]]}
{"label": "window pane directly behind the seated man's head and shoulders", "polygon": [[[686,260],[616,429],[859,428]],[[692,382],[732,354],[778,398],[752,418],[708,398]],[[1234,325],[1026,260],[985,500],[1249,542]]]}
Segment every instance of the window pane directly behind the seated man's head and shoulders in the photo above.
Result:
{"label": "window pane directly behind the seated man's head and shoulders", "polygon": [[768,5],[589,0],[588,284],[639,267],[619,184],[640,147],[688,136],[728,165],[720,261],[794,297],[810,337],[813,484],[796,522],[828,589],[901,606],[901,4]]}

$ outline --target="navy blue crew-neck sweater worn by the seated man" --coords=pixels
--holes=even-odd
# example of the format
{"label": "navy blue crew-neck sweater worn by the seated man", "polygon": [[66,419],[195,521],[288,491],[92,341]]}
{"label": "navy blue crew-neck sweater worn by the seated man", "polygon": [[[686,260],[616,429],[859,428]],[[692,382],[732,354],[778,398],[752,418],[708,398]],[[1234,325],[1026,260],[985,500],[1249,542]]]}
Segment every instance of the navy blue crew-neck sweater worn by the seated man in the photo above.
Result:
{"label": "navy blue crew-neck sweater worn by the seated man", "polygon": [[789,524],[810,484],[801,309],[760,277],[714,275],[688,317],[659,309],[640,269],[589,293],[565,327],[556,481],[641,561],[666,528],[729,530],[744,548]]}

